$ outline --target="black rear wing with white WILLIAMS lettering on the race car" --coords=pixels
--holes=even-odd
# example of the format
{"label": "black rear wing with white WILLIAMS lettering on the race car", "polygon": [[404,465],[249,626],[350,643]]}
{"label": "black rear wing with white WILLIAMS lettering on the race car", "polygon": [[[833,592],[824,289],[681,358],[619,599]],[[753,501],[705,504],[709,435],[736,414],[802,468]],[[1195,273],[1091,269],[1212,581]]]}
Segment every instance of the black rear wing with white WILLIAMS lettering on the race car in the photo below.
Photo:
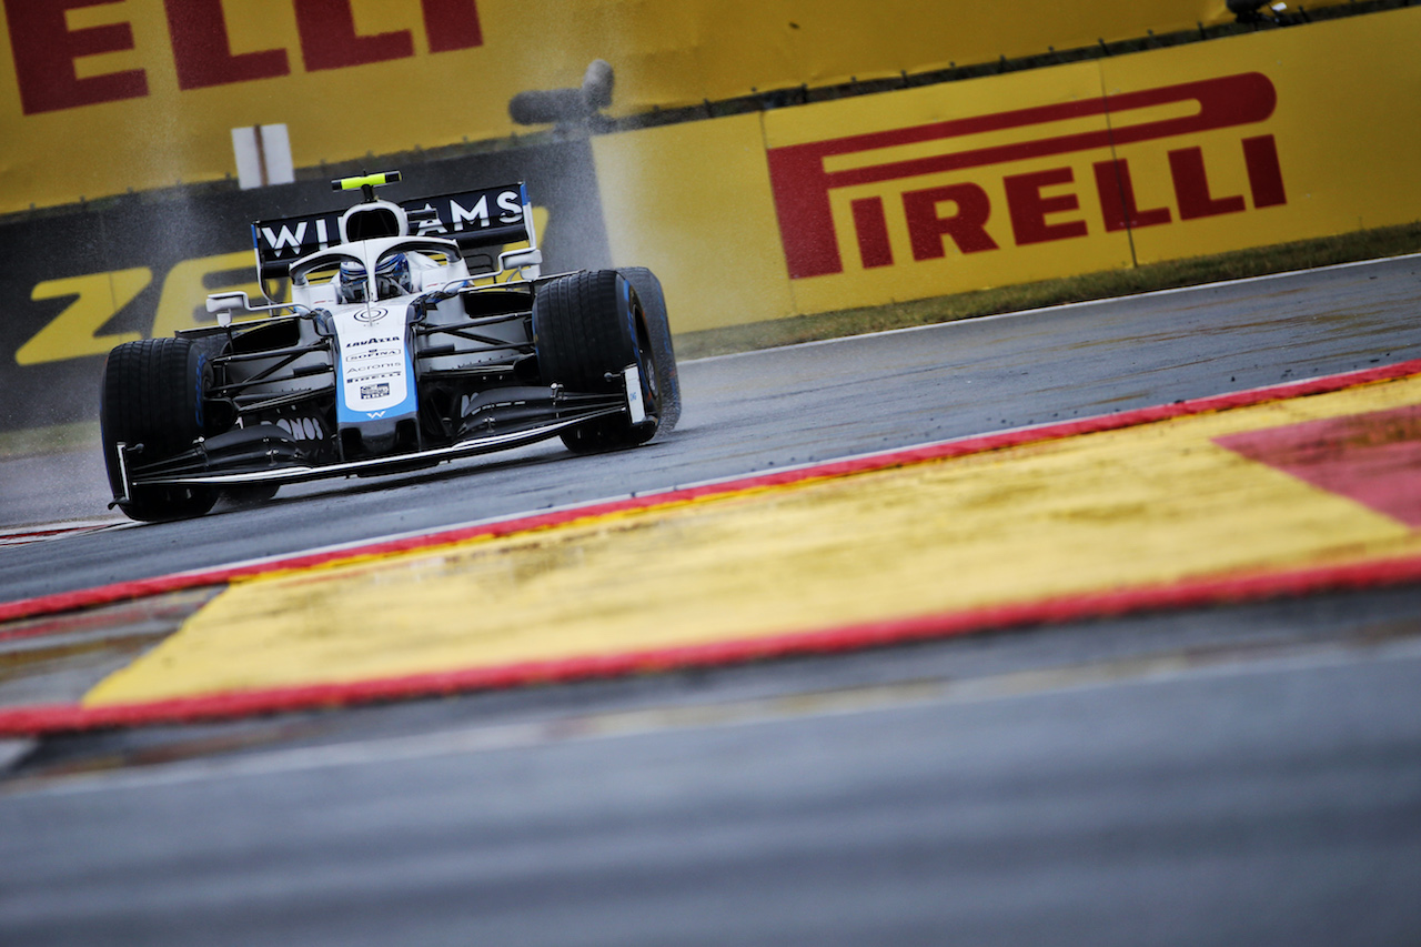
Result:
{"label": "black rear wing with white WILLIAMS lettering on the race car", "polygon": [[[291,263],[308,253],[358,239],[379,236],[435,236],[455,240],[463,252],[496,247],[527,240],[529,249],[519,260],[539,262],[537,235],[533,232],[533,206],[523,182],[479,191],[402,200],[398,205],[375,200],[347,210],[314,213],[300,218],[257,220],[252,225],[252,245],[257,255],[257,274],[264,280],[286,277]],[[492,262],[492,255],[489,255]],[[502,270],[503,260],[499,260]]]}

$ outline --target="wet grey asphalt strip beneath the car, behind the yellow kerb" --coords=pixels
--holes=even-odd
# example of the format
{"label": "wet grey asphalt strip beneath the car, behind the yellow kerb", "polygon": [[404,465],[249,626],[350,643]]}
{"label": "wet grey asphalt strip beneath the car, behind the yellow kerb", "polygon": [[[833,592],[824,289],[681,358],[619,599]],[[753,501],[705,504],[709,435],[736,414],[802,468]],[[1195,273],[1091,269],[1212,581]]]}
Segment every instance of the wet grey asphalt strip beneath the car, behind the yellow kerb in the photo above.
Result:
{"label": "wet grey asphalt strip beneath the car, behind the yellow kerb", "polygon": [[[577,458],[554,442],[286,488],[259,509],[7,549],[0,590],[34,597],[1404,361],[1421,357],[1418,283],[1407,257],[691,363],[681,425],[639,451]],[[0,465],[9,525],[60,505],[102,516],[97,449],[74,466],[67,482]],[[65,489],[36,498],[43,482]],[[92,499],[75,509],[80,496]]]}

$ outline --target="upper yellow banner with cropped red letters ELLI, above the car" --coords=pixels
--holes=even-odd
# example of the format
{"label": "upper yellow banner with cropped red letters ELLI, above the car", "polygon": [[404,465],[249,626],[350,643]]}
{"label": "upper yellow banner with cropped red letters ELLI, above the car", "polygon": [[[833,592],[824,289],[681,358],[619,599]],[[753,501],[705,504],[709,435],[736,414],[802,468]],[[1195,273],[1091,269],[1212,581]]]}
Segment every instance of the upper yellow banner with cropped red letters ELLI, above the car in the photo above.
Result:
{"label": "upper yellow banner with cropped red letters ELLI, above the car", "polygon": [[517,131],[617,71],[612,115],[1229,21],[1223,0],[0,0],[0,215],[222,181],[233,129],[297,168]]}

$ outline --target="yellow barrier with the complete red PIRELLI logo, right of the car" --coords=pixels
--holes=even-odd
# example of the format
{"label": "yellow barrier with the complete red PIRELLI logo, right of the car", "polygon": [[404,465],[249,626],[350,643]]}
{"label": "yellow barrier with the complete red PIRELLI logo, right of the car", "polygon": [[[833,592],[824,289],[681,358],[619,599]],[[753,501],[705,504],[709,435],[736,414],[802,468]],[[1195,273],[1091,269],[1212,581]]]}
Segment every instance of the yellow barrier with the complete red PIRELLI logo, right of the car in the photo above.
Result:
{"label": "yellow barrier with the complete red PIRELLI logo, right of the car", "polygon": [[594,139],[678,331],[1421,219],[1421,10]]}

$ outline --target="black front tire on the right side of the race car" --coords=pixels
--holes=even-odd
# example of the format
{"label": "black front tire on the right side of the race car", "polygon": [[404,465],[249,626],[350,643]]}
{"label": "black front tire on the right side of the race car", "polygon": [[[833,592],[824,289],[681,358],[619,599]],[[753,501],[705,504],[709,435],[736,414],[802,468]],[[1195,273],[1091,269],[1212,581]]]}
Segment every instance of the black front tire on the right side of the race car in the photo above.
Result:
{"label": "black front tire on the right side of the race car", "polygon": [[628,365],[641,373],[647,419],[625,415],[590,421],[563,434],[578,454],[645,444],[661,428],[657,355],[637,290],[615,270],[570,273],[543,286],[533,300],[533,340],[544,384],[568,391],[618,392]]}

